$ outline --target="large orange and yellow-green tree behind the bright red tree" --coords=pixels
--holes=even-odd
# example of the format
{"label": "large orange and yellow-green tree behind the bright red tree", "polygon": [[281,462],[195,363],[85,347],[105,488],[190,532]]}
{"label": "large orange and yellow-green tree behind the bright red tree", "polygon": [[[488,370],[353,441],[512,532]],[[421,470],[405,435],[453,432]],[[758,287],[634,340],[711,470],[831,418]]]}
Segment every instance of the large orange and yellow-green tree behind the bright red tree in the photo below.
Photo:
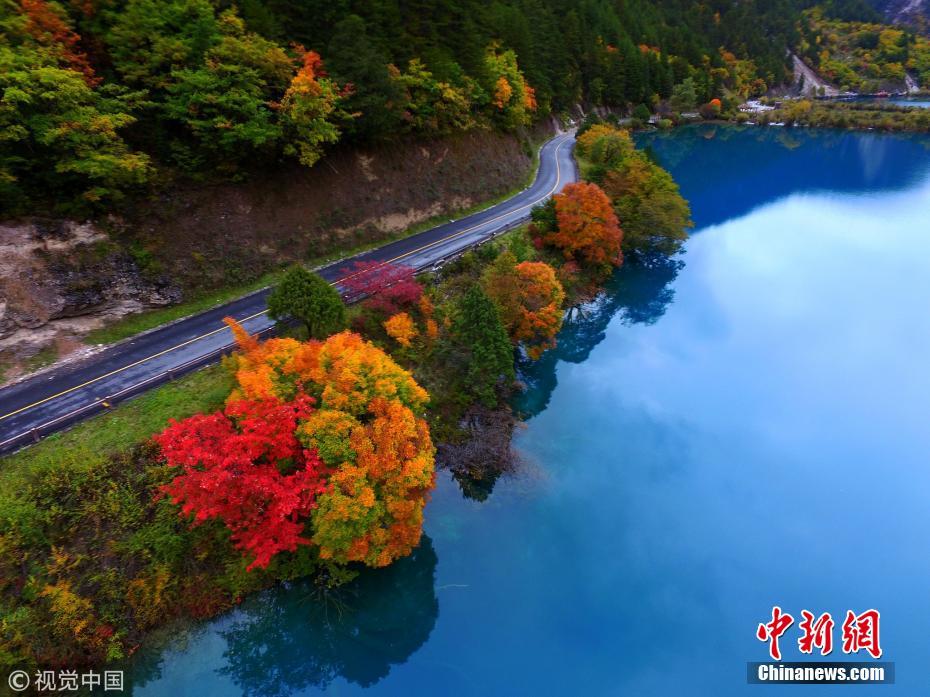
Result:
{"label": "large orange and yellow-green tree behind the bright red tree", "polygon": [[233,321],[242,353],[231,399],[291,399],[317,409],[297,438],[331,472],[310,516],[322,559],[386,566],[419,543],[434,485],[429,399],[406,370],[352,332],[325,341],[256,342]]}

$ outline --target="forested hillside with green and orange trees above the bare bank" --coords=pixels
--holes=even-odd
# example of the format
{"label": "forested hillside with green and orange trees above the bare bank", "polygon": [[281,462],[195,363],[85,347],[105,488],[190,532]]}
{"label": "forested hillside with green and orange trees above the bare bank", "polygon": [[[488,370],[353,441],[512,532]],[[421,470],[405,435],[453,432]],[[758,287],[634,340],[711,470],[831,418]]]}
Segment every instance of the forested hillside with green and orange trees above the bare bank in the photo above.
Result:
{"label": "forested hillside with green and orange trees above the bare bank", "polygon": [[108,213],[681,84],[694,107],[761,94],[798,1],[0,0],[0,215]]}

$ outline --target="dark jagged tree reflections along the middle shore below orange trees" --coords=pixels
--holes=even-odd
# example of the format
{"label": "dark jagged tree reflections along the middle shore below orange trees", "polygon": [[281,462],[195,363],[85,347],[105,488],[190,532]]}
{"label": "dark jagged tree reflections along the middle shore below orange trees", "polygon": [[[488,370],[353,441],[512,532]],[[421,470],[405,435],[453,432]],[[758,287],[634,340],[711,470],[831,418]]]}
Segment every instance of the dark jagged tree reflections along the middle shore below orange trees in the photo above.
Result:
{"label": "dark jagged tree reflections along the middle shore below orange trees", "polygon": [[675,299],[672,283],[684,262],[678,258],[634,259],[618,269],[592,301],[569,309],[558,345],[538,361],[519,362],[526,389],[514,400],[517,413],[529,418],[548,405],[558,384],[559,361],[583,363],[604,340],[614,317],[625,325],[654,324]]}

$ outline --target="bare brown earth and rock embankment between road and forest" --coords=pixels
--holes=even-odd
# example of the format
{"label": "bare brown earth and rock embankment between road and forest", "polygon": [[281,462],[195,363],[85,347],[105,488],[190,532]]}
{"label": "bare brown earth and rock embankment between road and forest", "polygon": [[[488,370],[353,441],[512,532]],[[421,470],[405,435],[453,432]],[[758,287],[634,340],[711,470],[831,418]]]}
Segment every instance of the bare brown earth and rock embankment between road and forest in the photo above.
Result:
{"label": "bare brown earth and rock embankment between road and forest", "polygon": [[[541,138],[548,131],[541,128]],[[181,187],[98,223],[0,224],[0,382],[129,313],[243,285],[508,193],[531,143],[475,131],[343,148],[313,169]]]}

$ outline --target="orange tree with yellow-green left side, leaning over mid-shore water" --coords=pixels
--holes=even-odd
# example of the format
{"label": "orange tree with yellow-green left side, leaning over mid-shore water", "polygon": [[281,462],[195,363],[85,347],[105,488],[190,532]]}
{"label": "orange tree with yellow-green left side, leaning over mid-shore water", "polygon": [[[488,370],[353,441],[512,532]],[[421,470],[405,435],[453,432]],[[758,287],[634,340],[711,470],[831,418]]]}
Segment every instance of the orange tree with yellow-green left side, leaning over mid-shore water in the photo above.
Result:
{"label": "orange tree with yellow-green left side, leaning over mid-shore water", "polygon": [[537,360],[555,347],[565,301],[555,269],[539,261],[518,264],[511,252],[504,252],[485,271],[481,285],[500,308],[510,340],[524,344],[530,358]]}

